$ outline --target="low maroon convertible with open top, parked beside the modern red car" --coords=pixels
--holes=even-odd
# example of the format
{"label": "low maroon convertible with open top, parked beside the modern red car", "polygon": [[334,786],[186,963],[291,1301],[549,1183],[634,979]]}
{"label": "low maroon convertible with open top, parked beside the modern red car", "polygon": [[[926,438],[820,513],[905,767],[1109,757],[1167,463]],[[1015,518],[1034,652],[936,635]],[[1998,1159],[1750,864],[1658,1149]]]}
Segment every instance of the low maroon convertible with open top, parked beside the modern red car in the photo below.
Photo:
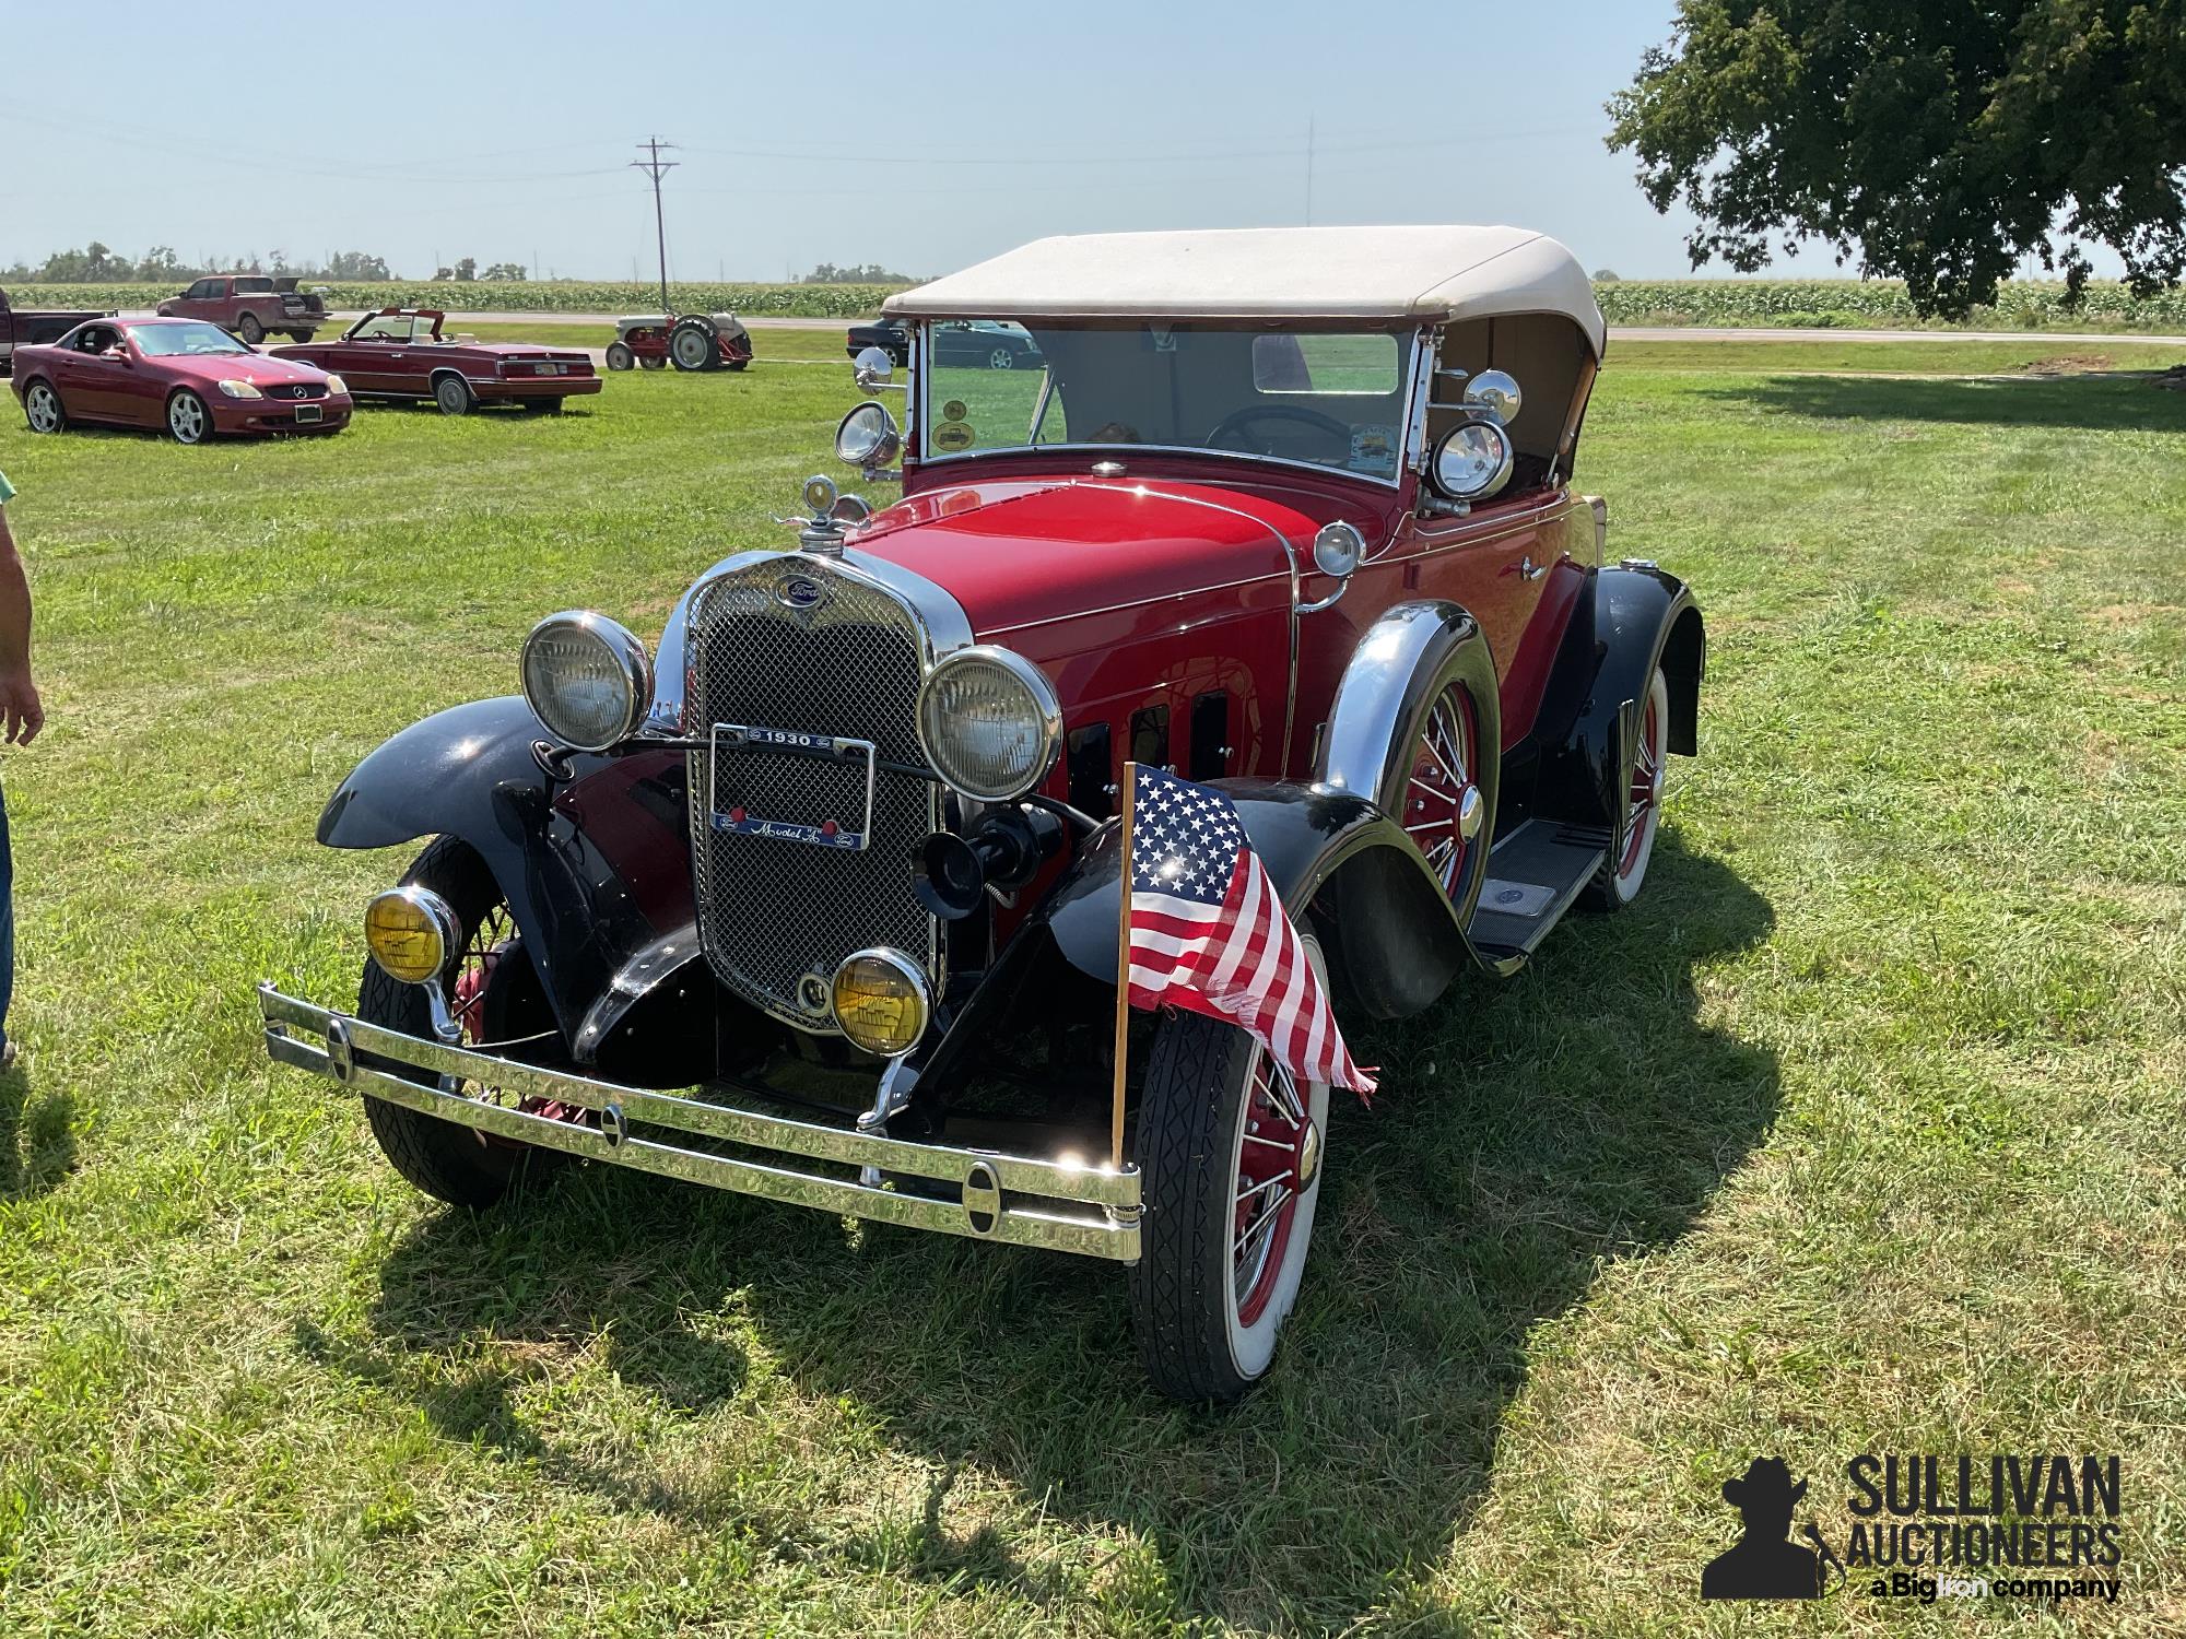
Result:
{"label": "low maroon convertible with open top, parked beside the modern red car", "polygon": [[442,334],[446,317],[433,308],[380,308],[343,330],[341,341],[273,347],[273,356],[341,372],[359,398],[431,398],[444,415],[468,415],[479,404],[555,415],[562,400],[599,391],[592,356],[577,347],[450,341]]}

